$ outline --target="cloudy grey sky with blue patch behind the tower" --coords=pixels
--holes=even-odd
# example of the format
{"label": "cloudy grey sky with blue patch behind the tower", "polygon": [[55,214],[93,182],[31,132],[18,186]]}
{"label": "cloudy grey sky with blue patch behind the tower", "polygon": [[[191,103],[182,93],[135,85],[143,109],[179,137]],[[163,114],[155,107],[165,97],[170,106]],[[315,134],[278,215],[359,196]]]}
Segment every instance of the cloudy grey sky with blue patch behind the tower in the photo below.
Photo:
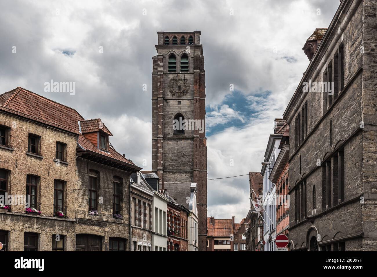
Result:
{"label": "cloudy grey sky with blue patch behind the tower", "polygon": [[[328,27],[338,6],[339,0],[2,1],[0,93],[20,86],[86,119],[101,118],[116,150],[139,166],[145,159],[150,170],[156,32],[200,30],[208,179],[260,171],[273,120],[309,64],[302,47],[316,27]],[[51,79],[75,82],[75,95],[44,92]],[[248,176],[208,181],[208,216],[241,221],[248,194]]]}

